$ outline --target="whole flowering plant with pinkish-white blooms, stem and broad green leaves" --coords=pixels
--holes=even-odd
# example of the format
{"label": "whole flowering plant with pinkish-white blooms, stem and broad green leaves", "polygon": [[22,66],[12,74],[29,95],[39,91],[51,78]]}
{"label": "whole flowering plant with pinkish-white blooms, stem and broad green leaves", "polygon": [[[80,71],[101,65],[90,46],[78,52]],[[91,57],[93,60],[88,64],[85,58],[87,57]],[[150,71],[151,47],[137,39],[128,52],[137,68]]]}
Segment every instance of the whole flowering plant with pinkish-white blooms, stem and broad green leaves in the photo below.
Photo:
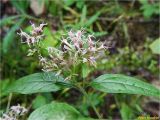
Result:
{"label": "whole flowering plant with pinkish-white blooms, stem and broad green leaves", "polygon": [[[84,30],[73,31],[62,35],[60,44],[56,47],[43,46],[43,28],[47,24],[36,27],[31,23],[32,31],[26,33],[20,30],[21,42],[28,45],[28,56],[37,56],[42,66],[41,73],[34,73],[16,80],[7,92],[33,94],[40,92],[56,92],[66,88],[79,90],[89,101],[97,118],[103,119],[88,96],[87,88],[91,87],[105,93],[139,94],[160,97],[160,90],[137,78],[122,74],[103,74],[93,80],[87,80],[88,68],[98,68],[102,59],[109,57],[107,48],[94,35]],[[27,110],[25,109],[25,112]],[[74,107],[58,101],[51,102],[33,111],[29,120],[92,120],[85,117]],[[4,120],[7,120],[4,116]]]}

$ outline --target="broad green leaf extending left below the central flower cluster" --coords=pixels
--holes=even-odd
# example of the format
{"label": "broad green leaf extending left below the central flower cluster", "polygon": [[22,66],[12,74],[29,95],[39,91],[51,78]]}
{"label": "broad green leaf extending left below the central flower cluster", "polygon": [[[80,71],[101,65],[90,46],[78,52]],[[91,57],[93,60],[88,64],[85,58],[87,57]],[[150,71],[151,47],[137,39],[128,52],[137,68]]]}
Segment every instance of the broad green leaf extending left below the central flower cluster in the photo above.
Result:
{"label": "broad green leaf extending left below the central flower cluster", "polygon": [[35,73],[12,83],[7,92],[16,92],[22,94],[40,93],[40,92],[53,92],[60,90],[60,85],[56,82],[63,82],[64,79],[56,76],[53,72]]}

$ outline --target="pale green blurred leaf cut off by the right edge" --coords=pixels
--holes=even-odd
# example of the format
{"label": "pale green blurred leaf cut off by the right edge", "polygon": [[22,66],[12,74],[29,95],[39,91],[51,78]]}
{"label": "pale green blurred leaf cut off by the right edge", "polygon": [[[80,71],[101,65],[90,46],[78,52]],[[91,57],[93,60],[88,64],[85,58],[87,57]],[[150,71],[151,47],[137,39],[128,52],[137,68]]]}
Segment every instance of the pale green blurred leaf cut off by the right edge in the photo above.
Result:
{"label": "pale green blurred leaf cut off by the right edge", "polygon": [[150,48],[153,53],[160,54],[160,38],[156,39],[151,45]]}

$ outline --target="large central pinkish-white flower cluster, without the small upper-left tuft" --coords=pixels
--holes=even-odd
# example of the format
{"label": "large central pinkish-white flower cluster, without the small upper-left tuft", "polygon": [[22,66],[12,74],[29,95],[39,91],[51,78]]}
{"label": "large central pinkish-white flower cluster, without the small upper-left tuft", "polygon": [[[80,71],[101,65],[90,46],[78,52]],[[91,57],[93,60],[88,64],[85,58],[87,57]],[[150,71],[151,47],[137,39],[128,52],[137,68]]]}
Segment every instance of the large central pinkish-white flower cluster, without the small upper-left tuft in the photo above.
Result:
{"label": "large central pinkish-white flower cluster, without the small upper-left tuft", "polygon": [[48,47],[49,58],[40,56],[40,62],[44,71],[69,70],[73,65],[89,63],[96,67],[96,60],[99,53],[104,52],[103,44],[97,44],[93,35],[85,33],[83,30],[68,32],[66,38],[61,40],[59,49]]}

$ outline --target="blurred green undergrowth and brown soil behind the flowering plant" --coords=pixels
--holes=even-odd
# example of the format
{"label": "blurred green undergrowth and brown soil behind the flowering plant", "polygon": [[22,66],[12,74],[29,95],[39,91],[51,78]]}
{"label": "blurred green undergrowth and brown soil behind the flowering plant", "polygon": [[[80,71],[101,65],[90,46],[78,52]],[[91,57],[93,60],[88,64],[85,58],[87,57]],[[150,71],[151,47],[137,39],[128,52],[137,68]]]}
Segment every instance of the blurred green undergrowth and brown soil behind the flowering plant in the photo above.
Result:
{"label": "blurred green undergrowth and brown soil behind the flowering plant", "polygon": [[[29,21],[45,22],[44,46],[57,46],[62,34],[84,28],[97,40],[110,46],[107,59],[98,70],[86,70],[87,79],[103,73],[122,73],[145,79],[160,88],[159,82],[159,0],[1,0],[0,113],[17,103],[30,112],[52,100],[74,105],[85,116],[96,118],[89,104],[74,89],[36,95],[4,94],[12,81],[41,71],[34,57],[27,57],[27,46],[20,43],[19,29],[29,31]],[[89,72],[88,72],[89,71]],[[150,97],[102,94],[89,88],[89,96],[104,118],[160,116],[160,102]],[[81,104],[84,101],[84,104]],[[32,103],[32,104],[31,104]]]}

